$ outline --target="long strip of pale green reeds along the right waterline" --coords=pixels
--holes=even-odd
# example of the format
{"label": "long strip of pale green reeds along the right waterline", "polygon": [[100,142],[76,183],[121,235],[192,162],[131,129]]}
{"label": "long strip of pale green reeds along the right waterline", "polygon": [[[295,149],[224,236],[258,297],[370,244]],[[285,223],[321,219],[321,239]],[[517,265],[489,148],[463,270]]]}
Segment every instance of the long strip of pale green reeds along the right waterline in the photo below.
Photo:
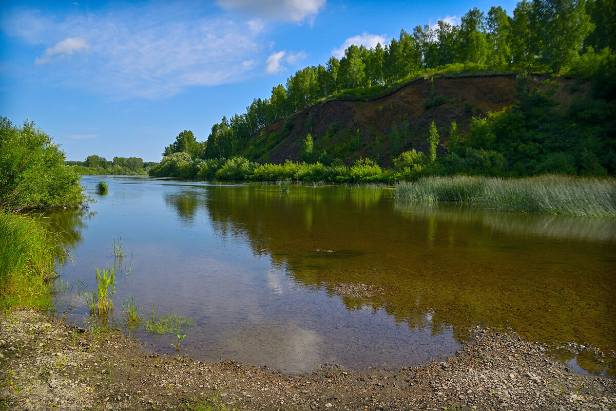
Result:
{"label": "long strip of pale green reeds along the right waterline", "polygon": [[545,175],[519,179],[430,176],[398,182],[396,197],[458,201],[505,211],[616,217],[616,180]]}

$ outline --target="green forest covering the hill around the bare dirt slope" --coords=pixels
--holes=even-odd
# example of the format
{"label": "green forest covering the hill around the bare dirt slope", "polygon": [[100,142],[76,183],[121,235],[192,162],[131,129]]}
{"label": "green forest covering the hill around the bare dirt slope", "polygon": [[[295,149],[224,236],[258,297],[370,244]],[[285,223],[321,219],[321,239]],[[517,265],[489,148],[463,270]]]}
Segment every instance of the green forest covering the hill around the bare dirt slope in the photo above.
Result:
{"label": "green forest covering the hill around the bare dirt slope", "polygon": [[[368,101],[421,77],[519,73],[521,81],[511,107],[477,115],[470,128],[457,135],[455,124],[436,124],[441,134],[437,144],[446,149],[439,150],[439,164],[431,166],[431,173],[613,174],[615,22],[613,1],[522,1],[513,10],[513,17],[501,7],[492,7],[487,14],[474,8],[461,18],[459,25],[439,21],[436,26],[416,26],[411,33],[402,30],[399,38],[384,46],[366,49],[352,45],[339,60],[331,57],[325,66],[296,71],[286,85],[273,87],[269,98],[254,99],[245,113],[224,116],[212,126],[205,142],[197,142],[190,131],[180,133],[176,142],[164,150],[161,165],[150,173],[200,177],[208,174],[200,173],[200,160],[235,156],[269,163],[267,152],[286,138],[290,116],[317,102]],[[528,81],[528,73],[577,78],[577,83],[567,89],[573,101],[559,105],[553,98],[556,83],[545,81],[538,86]],[[585,87],[590,91],[580,92]],[[434,94],[426,99],[424,108],[447,102],[444,96]],[[259,132],[283,120],[282,132]],[[306,124],[302,147],[310,145],[308,140],[322,137],[307,138],[311,125]],[[335,128],[336,124],[328,126]],[[453,142],[452,136],[444,132],[452,126]],[[355,130],[335,132],[346,134],[352,147]],[[397,147],[397,141],[408,137],[402,135],[404,132],[405,124],[393,124],[389,131],[371,133],[370,139],[384,147],[391,146],[393,160],[404,148]],[[421,139],[428,134],[426,129]],[[419,137],[414,138],[417,142]],[[407,148],[410,147],[412,144]],[[360,160],[349,156],[349,152],[334,153],[329,148],[329,152],[323,147],[320,152],[302,155],[300,159],[306,163],[318,161],[323,166],[329,166],[336,158],[344,165]],[[379,151],[366,157],[382,166],[383,155]],[[185,161],[192,164],[192,170],[185,165],[184,171],[179,171],[181,166],[164,166],[177,160],[170,157],[174,153],[188,154],[190,158],[184,156],[181,161],[182,165]],[[389,161],[387,165],[395,166],[395,162]]]}

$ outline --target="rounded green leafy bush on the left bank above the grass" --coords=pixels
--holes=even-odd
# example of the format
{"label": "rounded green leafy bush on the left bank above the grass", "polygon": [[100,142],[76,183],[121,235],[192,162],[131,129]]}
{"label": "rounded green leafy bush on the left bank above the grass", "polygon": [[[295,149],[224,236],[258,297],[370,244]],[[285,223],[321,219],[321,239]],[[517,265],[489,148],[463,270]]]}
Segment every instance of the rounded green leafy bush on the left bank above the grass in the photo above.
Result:
{"label": "rounded green leafy bush on the left bank above the grass", "polygon": [[45,132],[0,118],[0,210],[73,208],[83,204],[79,176]]}

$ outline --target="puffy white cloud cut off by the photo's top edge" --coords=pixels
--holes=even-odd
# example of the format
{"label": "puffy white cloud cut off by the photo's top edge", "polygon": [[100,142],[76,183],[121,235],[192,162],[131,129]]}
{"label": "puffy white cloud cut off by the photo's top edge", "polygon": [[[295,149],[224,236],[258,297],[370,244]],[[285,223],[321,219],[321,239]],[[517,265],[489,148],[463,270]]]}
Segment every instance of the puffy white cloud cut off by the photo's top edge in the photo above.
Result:
{"label": "puffy white cloud cut off by the photo's top edge", "polygon": [[257,15],[268,20],[301,22],[314,18],[325,6],[326,0],[218,0],[224,9],[237,9],[248,15]]}

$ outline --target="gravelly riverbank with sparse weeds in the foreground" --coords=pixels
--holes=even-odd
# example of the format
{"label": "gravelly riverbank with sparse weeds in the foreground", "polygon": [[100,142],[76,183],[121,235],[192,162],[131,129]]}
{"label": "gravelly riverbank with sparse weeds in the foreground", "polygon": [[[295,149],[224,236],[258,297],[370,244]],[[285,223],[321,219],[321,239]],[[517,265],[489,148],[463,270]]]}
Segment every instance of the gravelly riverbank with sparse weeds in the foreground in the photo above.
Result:
{"label": "gravelly riverbank with sparse weeds in the foreground", "polygon": [[[33,310],[0,318],[2,410],[613,410],[616,381],[554,362],[517,335],[476,328],[445,362],[288,374],[147,352]],[[209,407],[209,408],[208,408]]]}

